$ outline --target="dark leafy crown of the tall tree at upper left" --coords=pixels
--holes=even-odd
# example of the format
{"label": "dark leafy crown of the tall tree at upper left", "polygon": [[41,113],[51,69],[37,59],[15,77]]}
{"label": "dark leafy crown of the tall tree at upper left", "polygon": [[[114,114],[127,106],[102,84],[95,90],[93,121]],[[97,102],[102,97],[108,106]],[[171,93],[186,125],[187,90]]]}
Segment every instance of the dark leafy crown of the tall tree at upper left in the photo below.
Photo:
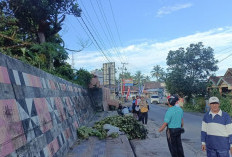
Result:
{"label": "dark leafy crown of the tall tree at upper left", "polygon": [[1,12],[16,18],[21,31],[39,43],[51,40],[62,28],[65,15],[79,17],[81,10],[75,0],[2,0]]}

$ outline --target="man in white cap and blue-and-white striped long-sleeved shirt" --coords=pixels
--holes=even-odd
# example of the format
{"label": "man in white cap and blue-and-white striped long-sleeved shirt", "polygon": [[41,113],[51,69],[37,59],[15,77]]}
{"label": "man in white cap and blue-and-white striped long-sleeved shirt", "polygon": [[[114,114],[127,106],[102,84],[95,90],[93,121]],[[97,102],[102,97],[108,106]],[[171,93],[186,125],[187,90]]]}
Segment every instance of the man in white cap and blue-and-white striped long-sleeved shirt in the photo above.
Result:
{"label": "man in white cap and blue-and-white striped long-sleeved shirt", "polygon": [[232,154],[232,124],[228,113],[220,109],[217,97],[209,98],[210,111],[202,121],[202,150],[207,157],[230,157]]}

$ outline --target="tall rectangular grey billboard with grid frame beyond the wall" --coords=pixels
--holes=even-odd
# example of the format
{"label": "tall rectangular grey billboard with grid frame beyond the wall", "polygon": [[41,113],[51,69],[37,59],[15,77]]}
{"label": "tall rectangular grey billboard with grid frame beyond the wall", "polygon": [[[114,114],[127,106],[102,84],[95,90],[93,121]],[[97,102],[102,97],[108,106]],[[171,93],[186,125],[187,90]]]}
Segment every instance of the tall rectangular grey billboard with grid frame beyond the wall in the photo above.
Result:
{"label": "tall rectangular grey billboard with grid frame beyond the wall", "polygon": [[115,85],[115,62],[103,64],[103,85]]}

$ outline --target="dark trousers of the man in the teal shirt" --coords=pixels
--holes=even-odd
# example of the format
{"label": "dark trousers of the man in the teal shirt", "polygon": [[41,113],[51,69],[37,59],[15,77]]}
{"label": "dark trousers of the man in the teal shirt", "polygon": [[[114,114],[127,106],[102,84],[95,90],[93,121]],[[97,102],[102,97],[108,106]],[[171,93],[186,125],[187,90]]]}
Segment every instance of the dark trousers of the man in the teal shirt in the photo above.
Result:
{"label": "dark trousers of the man in the teal shirt", "polygon": [[184,157],[184,150],[181,142],[181,129],[168,128],[166,130],[168,148],[172,157]]}

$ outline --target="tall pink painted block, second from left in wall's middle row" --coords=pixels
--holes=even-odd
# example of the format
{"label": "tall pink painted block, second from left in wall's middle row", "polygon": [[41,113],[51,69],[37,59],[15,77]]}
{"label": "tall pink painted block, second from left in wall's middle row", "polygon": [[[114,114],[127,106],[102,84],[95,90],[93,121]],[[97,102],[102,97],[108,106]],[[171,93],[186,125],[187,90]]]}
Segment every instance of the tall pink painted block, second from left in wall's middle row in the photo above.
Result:
{"label": "tall pink painted block, second from left in wall's middle row", "polygon": [[52,119],[48,110],[47,101],[45,98],[34,98],[34,103],[41,124],[41,130],[45,133],[52,128]]}

